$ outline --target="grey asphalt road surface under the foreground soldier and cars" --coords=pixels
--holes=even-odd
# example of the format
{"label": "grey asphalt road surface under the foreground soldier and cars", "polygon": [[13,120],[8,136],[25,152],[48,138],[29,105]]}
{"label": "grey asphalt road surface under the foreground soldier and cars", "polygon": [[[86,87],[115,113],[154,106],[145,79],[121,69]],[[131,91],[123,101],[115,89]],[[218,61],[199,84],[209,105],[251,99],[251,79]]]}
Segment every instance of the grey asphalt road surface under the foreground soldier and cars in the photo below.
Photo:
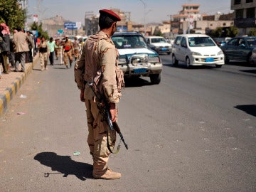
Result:
{"label": "grey asphalt road surface under the foreground soldier and cars", "polygon": [[129,150],[110,156],[115,181],[91,176],[73,70],[38,63],[0,119],[0,191],[256,191],[256,68],[161,58],[159,85],[126,81],[119,127]]}

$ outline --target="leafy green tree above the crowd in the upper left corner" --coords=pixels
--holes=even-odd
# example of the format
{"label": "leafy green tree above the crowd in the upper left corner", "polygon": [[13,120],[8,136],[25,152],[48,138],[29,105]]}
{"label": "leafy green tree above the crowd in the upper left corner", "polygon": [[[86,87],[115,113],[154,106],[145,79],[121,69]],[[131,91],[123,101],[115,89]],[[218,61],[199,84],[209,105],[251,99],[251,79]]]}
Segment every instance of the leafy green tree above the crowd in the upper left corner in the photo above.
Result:
{"label": "leafy green tree above the crowd in the upper left corner", "polygon": [[0,0],[0,22],[6,23],[12,31],[14,28],[24,28],[27,18],[26,9],[18,6],[17,0]]}

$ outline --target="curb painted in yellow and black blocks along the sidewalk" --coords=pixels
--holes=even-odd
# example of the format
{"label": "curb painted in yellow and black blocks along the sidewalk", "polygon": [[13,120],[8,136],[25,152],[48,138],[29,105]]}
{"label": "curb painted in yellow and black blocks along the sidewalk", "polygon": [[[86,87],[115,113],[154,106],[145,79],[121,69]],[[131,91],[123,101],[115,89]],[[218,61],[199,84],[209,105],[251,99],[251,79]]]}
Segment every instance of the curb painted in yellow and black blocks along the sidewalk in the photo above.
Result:
{"label": "curb painted in yellow and black blocks along the sidewalk", "polygon": [[16,78],[13,82],[11,82],[11,85],[9,85],[9,87],[7,87],[4,90],[4,94],[0,95],[0,117],[7,111],[11,100],[16,95],[21,85],[28,77],[28,74],[32,72],[33,66],[38,62],[38,58],[39,55],[37,54],[33,58],[33,63],[26,63],[25,73],[21,74],[20,77]]}

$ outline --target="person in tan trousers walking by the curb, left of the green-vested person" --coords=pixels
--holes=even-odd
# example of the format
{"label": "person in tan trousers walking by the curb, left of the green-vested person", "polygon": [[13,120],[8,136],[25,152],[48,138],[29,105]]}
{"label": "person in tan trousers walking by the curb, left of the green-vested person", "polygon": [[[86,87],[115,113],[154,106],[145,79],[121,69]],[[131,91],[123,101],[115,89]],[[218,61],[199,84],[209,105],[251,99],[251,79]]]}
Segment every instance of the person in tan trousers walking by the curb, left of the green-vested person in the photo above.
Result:
{"label": "person in tan trousers walking by the curb, left of the green-vested person", "polygon": [[41,42],[38,44],[39,48],[39,57],[40,57],[40,65],[41,71],[48,70],[48,54],[50,53],[50,49],[48,43],[46,42],[45,37],[41,37]]}

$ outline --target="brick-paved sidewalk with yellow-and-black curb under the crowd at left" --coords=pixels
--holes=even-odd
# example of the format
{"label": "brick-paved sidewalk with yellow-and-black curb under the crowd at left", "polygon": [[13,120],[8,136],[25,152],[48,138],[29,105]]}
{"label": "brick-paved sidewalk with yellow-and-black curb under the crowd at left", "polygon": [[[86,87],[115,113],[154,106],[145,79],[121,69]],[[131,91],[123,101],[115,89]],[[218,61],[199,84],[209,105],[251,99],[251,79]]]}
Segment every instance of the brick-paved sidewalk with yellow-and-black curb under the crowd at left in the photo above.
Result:
{"label": "brick-paved sidewalk with yellow-and-black curb under the crowd at left", "polygon": [[[11,68],[11,72],[9,74],[2,73],[0,79],[0,117],[7,111],[12,98],[16,95],[29,73],[32,72],[33,65],[38,62],[38,58],[39,54],[33,58],[33,63],[25,64],[25,73],[14,72],[14,68]],[[2,66],[0,69],[2,71]],[[21,70],[21,64],[18,70]]]}

